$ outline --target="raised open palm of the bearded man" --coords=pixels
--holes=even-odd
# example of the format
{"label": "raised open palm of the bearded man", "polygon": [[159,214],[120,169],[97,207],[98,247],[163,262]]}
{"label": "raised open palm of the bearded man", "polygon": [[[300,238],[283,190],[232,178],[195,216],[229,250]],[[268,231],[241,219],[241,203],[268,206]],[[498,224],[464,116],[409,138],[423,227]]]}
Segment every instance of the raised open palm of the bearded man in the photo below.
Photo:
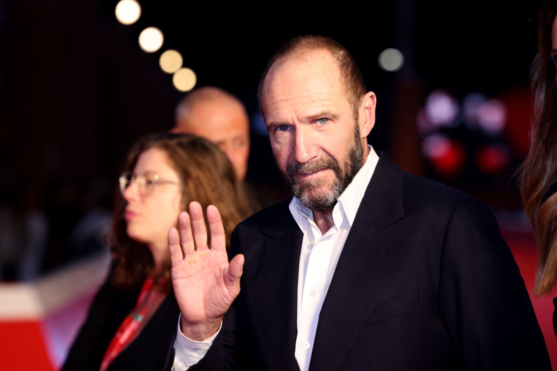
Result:
{"label": "raised open palm of the bearded man", "polygon": [[[189,204],[178,216],[179,232],[168,232],[172,284],[182,313],[182,332],[194,340],[210,337],[232,301],[240,293],[243,255],[228,263],[226,236],[216,206],[207,207],[211,249],[207,227],[198,202]],[[200,338],[200,339],[196,339]]]}

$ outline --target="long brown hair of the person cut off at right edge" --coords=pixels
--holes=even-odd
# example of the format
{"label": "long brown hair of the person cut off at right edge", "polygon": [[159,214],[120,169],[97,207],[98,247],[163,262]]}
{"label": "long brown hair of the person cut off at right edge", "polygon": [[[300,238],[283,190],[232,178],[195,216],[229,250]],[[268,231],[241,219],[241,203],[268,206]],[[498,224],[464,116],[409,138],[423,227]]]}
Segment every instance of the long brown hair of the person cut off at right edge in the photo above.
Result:
{"label": "long brown hair of the person cut off at right edge", "polygon": [[557,85],[551,61],[551,29],[556,14],[555,0],[546,2],[540,10],[538,54],[531,70],[534,112],[530,152],[519,169],[522,202],[539,253],[536,295],[548,294],[557,279],[557,195],[544,199],[557,181]]}

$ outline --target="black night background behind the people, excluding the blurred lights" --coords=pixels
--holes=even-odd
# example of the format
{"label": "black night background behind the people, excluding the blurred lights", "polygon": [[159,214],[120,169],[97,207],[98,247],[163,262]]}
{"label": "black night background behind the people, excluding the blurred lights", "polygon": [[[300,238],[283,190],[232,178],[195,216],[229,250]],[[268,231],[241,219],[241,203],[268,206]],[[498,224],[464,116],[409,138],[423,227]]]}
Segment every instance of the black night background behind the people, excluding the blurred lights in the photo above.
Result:
{"label": "black night background behind the people, excluding the blurred lights", "polygon": [[[76,226],[92,210],[110,213],[131,144],[173,126],[184,93],[160,70],[168,49],[182,53],[198,87],[232,92],[257,117],[258,78],[281,43],[305,33],[333,37],[351,51],[378,96],[369,137],[375,149],[496,210],[520,210],[511,176],[527,150],[540,2],[139,2],[139,21],[124,26],[114,15],[117,1],[0,1],[0,214],[6,218],[0,223],[15,220],[17,238],[25,241],[26,218],[40,211],[47,221],[40,273],[97,248],[98,241],[71,243]],[[165,37],[154,53],[138,44],[149,26]],[[389,47],[404,55],[398,72],[378,67],[379,53]],[[466,150],[462,168],[451,174],[423,155],[416,130],[417,112],[439,89],[459,101],[481,92],[509,110],[510,129],[496,138],[462,125],[446,130]],[[509,150],[509,161],[486,173],[474,154],[495,142]],[[248,178],[276,199],[288,196],[257,130]],[[13,256],[2,262],[3,279],[18,279]]]}

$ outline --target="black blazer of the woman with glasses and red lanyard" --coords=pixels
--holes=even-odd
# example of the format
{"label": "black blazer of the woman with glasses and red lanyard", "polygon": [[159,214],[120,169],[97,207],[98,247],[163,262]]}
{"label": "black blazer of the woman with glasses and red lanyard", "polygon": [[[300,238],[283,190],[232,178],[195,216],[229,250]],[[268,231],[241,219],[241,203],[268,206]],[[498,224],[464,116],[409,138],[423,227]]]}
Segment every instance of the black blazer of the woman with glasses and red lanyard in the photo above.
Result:
{"label": "black blazer of the woman with glasses and red lanyard", "polygon": [[[106,348],[122,321],[133,310],[140,290],[140,287],[116,289],[110,278],[106,281],[91,305],[62,371],[99,371]],[[118,355],[108,371],[159,370],[168,353],[167,344],[161,339],[176,332],[179,313],[174,292],[170,289],[138,338]]]}

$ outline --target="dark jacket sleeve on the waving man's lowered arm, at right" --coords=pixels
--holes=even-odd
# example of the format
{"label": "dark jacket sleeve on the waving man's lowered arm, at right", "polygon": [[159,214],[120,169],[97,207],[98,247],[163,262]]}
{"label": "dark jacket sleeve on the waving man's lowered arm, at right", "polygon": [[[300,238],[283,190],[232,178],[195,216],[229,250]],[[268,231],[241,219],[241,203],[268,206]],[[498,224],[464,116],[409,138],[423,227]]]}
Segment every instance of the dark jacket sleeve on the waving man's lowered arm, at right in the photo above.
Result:
{"label": "dark jacket sleeve on the waving man's lowered arm, at right", "polygon": [[448,221],[439,306],[458,368],[551,369],[519,268],[481,201],[466,199]]}

